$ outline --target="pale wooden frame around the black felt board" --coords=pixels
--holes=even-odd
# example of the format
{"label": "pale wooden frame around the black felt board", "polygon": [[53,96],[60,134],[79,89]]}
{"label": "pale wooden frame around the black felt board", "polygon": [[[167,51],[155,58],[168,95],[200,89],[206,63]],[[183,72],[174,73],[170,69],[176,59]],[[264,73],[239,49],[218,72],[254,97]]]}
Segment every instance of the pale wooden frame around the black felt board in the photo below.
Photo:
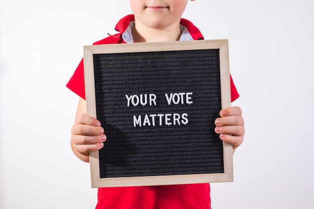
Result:
{"label": "pale wooden frame around the black felt board", "polygon": [[[221,107],[230,107],[231,99],[228,40],[94,45],[84,46],[85,89],[88,115],[97,118],[93,55],[107,53],[149,53],[203,49],[219,49],[220,85],[222,95]],[[95,151],[90,153],[91,184],[92,187],[118,187],[233,181],[232,155],[232,145],[223,142],[224,172],[222,173],[100,178],[99,152]]]}

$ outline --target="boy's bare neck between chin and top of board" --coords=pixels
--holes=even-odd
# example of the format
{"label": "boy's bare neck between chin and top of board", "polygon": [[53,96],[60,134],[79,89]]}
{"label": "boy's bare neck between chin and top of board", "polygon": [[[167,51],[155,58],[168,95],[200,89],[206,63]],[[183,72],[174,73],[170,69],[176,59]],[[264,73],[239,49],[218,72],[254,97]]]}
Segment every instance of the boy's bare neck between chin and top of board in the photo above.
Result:
{"label": "boy's bare neck between chin and top of board", "polygon": [[148,28],[135,21],[132,29],[134,43],[179,41],[181,37],[180,22],[163,29]]}

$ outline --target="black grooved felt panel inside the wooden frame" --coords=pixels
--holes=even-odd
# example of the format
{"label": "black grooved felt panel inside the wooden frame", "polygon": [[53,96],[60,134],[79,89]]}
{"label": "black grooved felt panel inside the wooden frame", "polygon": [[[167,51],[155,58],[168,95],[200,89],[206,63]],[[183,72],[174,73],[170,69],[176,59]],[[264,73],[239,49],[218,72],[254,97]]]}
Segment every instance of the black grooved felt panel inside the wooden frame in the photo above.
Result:
{"label": "black grooved felt panel inside the wooden frame", "polygon": [[[218,49],[93,59],[97,119],[107,135],[99,150],[100,178],[224,172],[222,141],[214,132],[221,109]],[[188,92],[192,104],[184,97],[183,104],[169,105],[165,96]],[[134,106],[130,100],[127,106],[125,95],[140,94],[147,95],[147,104]],[[156,105],[149,105],[149,94]],[[141,126],[134,116],[141,117]]]}

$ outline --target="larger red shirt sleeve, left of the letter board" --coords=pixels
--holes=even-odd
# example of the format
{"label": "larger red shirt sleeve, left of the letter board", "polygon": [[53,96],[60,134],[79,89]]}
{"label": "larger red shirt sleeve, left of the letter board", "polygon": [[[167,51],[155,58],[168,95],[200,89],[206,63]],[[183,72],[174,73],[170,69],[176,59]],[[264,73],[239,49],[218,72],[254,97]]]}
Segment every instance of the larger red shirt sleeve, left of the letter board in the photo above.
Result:
{"label": "larger red shirt sleeve, left of the letter board", "polygon": [[85,81],[83,59],[74,71],[73,76],[66,85],[71,91],[85,99]]}

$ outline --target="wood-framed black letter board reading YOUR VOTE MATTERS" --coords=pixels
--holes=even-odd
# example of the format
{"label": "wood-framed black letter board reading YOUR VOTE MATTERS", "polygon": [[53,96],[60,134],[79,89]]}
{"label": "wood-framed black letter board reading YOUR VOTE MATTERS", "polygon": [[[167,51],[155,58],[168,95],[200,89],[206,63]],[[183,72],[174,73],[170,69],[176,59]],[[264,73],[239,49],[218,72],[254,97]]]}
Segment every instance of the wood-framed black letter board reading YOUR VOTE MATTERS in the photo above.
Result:
{"label": "wood-framed black letter board reading YOUR VOTE MATTERS", "polygon": [[84,47],[87,112],[105,129],[92,187],[233,181],[214,132],[230,106],[228,40]]}

